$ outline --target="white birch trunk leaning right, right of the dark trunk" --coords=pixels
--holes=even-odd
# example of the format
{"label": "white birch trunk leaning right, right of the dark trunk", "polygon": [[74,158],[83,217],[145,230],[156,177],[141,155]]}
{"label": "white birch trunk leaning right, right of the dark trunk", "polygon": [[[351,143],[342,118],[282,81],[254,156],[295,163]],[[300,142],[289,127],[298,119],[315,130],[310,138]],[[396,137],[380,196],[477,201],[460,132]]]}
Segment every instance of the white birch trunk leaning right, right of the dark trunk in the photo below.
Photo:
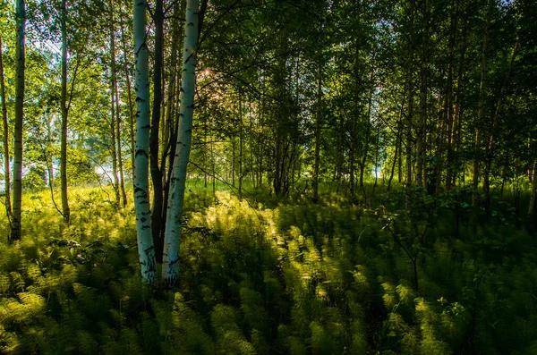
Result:
{"label": "white birch trunk leaning right, right of the dark trunk", "polygon": [[170,198],[167,201],[169,213],[166,221],[164,263],[162,266],[162,277],[169,285],[175,285],[179,280],[179,244],[183,226],[186,168],[192,141],[199,17],[199,1],[187,0],[183,47],[183,80],[181,82],[183,90],[181,90],[180,98],[180,116],[182,119],[177,131],[177,149],[170,184]]}

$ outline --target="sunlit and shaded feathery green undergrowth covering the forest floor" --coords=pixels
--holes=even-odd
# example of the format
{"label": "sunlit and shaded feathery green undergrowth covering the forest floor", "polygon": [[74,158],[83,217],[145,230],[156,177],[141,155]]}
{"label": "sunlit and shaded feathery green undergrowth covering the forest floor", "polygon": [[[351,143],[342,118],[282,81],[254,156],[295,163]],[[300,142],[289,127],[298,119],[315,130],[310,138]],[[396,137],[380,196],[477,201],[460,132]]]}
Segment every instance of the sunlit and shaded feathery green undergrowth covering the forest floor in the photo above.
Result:
{"label": "sunlit and shaded feathery green undergrowth covering the forest floor", "polygon": [[448,199],[413,216],[192,186],[165,292],[141,282],[132,206],[111,196],[72,190],[64,229],[46,192],[24,199],[22,241],[0,244],[0,352],[537,353],[534,237],[471,207],[455,230]]}

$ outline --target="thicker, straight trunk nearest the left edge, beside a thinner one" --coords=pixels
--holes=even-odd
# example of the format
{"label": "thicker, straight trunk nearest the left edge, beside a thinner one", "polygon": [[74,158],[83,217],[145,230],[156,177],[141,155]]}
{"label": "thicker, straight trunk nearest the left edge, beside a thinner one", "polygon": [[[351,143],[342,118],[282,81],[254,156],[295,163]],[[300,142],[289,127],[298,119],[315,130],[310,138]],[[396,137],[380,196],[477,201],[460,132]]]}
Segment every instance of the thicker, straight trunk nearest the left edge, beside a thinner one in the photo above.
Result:
{"label": "thicker, straight trunk nearest the left edge, beside a thinner one", "polygon": [[9,242],[21,240],[22,203],[22,121],[24,116],[24,70],[25,70],[25,28],[26,8],[24,0],[17,0],[15,15],[17,21],[17,93],[15,97],[15,131],[13,161],[13,221]]}

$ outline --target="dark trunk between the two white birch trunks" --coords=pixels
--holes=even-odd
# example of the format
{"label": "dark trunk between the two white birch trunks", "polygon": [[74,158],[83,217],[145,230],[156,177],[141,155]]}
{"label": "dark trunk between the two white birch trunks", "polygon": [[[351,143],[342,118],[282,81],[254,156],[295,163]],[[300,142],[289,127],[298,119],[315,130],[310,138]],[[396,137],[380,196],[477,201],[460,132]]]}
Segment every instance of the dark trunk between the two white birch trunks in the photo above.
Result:
{"label": "dark trunk between the two white birch trunks", "polygon": [[155,66],[153,67],[153,112],[151,119],[151,131],[149,138],[149,159],[151,168],[151,181],[153,182],[153,214],[151,216],[151,231],[155,256],[157,262],[162,262],[163,240],[161,228],[165,224],[162,219],[164,208],[164,187],[162,185],[162,170],[159,165],[159,139],[160,113],[162,105],[162,66],[164,48],[164,4],[163,0],[156,0],[155,13]]}

